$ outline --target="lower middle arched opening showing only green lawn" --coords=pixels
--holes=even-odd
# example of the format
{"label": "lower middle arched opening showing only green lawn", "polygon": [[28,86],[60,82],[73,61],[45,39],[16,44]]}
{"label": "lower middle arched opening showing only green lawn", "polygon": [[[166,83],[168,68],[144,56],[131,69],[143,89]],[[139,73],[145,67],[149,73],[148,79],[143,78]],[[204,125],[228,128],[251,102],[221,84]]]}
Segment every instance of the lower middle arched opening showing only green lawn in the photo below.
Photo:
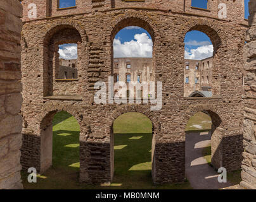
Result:
{"label": "lower middle arched opening showing only green lawn", "polygon": [[151,120],[139,112],[127,112],[113,121],[111,131],[112,183],[151,184],[155,145]]}

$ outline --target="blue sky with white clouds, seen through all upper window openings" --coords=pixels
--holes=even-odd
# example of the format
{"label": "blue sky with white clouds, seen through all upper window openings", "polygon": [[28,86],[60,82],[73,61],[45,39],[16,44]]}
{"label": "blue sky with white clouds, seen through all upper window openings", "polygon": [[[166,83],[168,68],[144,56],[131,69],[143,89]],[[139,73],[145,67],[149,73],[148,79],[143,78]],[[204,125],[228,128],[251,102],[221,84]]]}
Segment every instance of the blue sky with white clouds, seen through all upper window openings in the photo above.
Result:
{"label": "blue sky with white clouds, seen through all upper window openings", "polygon": [[[206,0],[193,0],[192,6],[207,8]],[[248,18],[248,2],[245,0],[245,18]],[[60,8],[75,6],[75,0],[60,0]],[[185,58],[203,59],[212,56],[212,42],[202,32],[192,31],[186,34]],[[152,57],[151,36],[140,27],[126,27],[117,33],[113,41],[114,57]],[[73,59],[75,57],[75,44],[66,44],[60,47],[60,57]],[[72,51],[72,52],[68,52]]]}

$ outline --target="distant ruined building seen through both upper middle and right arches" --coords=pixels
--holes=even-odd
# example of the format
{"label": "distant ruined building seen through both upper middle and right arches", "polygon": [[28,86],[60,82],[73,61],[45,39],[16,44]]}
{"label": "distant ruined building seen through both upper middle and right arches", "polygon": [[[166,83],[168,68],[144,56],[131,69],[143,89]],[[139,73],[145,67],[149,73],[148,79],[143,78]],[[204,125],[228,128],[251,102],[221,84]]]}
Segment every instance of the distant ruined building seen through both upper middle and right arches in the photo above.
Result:
{"label": "distant ruined building seen through both upper middle and right arches", "polygon": [[[185,59],[184,61],[184,97],[212,97],[212,57],[202,60]],[[124,81],[127,84],[130,81],[139,83],[155,81],[152,68],[152,58],[114,58],[114,81]],[[137,97],[141,97],[143,90],[135,93]]]}

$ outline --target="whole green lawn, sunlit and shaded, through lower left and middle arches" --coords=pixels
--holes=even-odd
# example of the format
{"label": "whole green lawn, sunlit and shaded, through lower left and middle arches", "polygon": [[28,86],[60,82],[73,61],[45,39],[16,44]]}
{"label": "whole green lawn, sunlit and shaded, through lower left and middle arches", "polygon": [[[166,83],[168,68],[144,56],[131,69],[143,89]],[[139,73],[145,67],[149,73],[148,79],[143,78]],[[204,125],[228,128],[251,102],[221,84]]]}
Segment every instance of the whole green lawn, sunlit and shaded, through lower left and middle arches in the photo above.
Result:
{"label": "whole green lawn, sunlit and shaded, through lower left and middle arches", "polygon": [[110,186],[79,183],[79,125],[67,112],[53,120],[53,167],[38,175],[37,183],[27,182],[25,189],[191,189],[189,182],[155,186],[151,178],[151,121],[130,112],[118,117],[113,125],[115,175]]}

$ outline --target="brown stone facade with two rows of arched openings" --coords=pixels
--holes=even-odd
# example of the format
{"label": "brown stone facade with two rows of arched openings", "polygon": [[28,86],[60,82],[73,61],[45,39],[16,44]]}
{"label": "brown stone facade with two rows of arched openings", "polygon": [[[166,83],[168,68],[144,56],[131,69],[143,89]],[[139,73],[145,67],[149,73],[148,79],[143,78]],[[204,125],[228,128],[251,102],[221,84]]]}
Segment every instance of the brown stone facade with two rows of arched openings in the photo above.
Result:
{"label": "brown stone facade with two rows of arched openings", "polygon": [[[141,112],[153,123],[152,177],[156,184],[182,182],[185,175],[186,124],[196,112],[212,117],[212,162],[228,171],[241,168],[243,151],[243,45],[248,22],[243,1],[208,1],[208,10],[191,1],[91,1],[58,9],[57,0],[23,0],[23,169],[44,172],[51,166],[52,119],[59,110],[80,125],[80,181],[112,181],[113,121]],[[226,3],[227,18],[218,18]],[[37,17],[27,15],[29,3]],[[162,81],[163,106],[95,104],[96,81],[113,76],[113,39],[122,28],[142,27],[153,40],[153,76]],[[210,98],[184,97],[184,37],[204,32],[214,46]],[[77,81],[56,82],[58,45],[77,44]],[[235,56],[235,57],[234,57]],[[65,96],[63,96],[65,95]]]}

